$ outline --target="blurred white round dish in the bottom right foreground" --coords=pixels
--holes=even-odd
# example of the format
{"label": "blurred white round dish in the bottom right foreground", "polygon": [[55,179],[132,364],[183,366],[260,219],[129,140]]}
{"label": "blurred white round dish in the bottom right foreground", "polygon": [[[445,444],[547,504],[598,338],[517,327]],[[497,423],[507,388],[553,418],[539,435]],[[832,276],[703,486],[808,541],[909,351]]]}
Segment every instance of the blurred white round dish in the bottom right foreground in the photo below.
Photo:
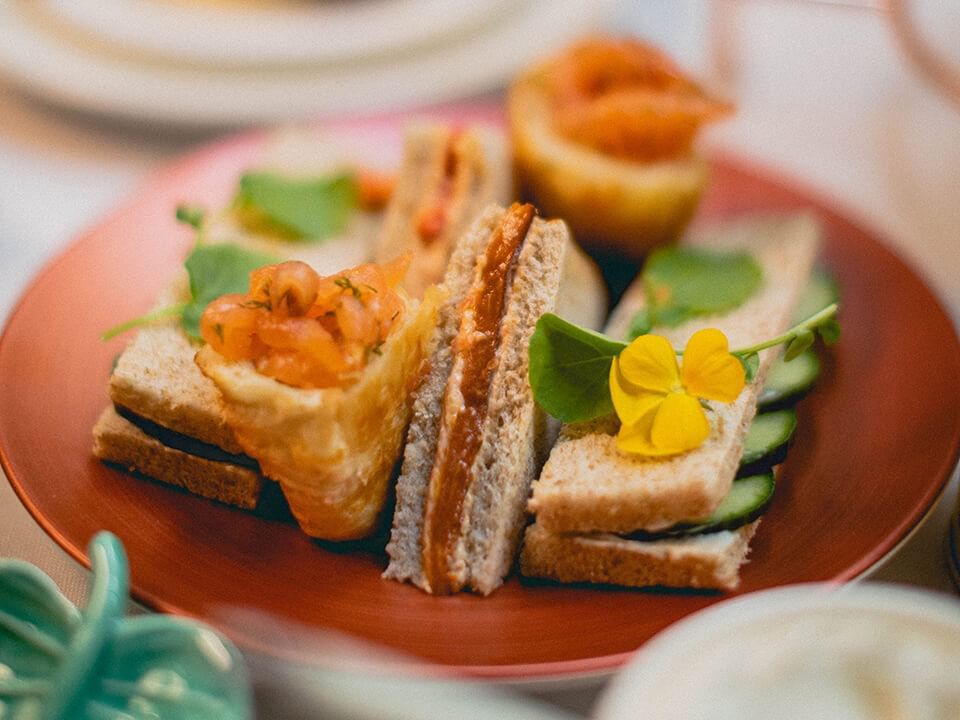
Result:
{"label": "blurred white round dish in the bottom right foreground", "polygon": [[598,720],[960,717],[960,602],[796,585],[691,615],[614,678]]}

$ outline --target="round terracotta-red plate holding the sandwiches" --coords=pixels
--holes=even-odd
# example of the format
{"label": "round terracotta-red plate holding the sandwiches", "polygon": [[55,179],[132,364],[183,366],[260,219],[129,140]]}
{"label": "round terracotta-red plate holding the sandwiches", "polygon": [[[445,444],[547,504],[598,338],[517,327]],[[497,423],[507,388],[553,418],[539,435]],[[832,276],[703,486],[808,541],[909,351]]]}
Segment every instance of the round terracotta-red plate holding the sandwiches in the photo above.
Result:
{"label": "round terracotta-red plate holding the sandwiches", "polygon": [[[487,113],[489,117],[489,113]],[[401,118],[339,127],[398,152]],[[225,203],[261,135],[159,173],[53,261],[0,342],[0,450],[24,504],[71,555],[98,530],[123,540],[134,596],[213,619],[223,605],[353,633],[456,670],[548,678],[611,669],[660,629],[721,595],[511,579],[490,598],[432,598],[380,579],[382,549],[311,542],[288,521],[218,506],[95,461],[93,426],[122,341],[99,333],[144,311],[191,240],[178,202]],[[937,498],[960,446],[960,349],[923,282],[864,226],[730,158],[714,161],[701,220],[810,208],[843,291],[843,339],[799,409],[798,436],[743,570],[741,593],[843,581],[876,563]],[[275,648],[282,652],[283,648]]]}

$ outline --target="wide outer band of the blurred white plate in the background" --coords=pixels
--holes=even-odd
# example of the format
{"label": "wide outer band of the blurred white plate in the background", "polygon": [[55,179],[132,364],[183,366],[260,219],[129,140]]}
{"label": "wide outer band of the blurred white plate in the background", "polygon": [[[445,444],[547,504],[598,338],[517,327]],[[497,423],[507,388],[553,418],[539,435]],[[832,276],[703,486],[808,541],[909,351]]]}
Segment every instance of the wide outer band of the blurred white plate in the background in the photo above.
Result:
{"label": "wide outer band of the blurred white plate in the background", "polygon": [[107,51],[38,24],[24,11],[28,3],[12,1],[0,3],[0,74],[71,108],[173,124],[225,127],[369,113],[500,88],[524,64],[599,27],[608,5],[526,0],[472,32],[423,47],[244,69]]}

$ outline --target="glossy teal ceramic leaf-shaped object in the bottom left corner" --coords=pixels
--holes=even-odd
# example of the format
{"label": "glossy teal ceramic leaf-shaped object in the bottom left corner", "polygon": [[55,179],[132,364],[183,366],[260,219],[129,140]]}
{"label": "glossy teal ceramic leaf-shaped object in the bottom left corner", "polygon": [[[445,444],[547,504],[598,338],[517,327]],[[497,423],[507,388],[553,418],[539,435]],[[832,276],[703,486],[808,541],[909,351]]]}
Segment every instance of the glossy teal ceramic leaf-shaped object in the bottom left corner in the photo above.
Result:
{"label": "glossy teal ceramic leaf-shaped object in the bottom left corner", "polygon": [[0,560],[0,720],[248,720],[236,648],[193,621],[125,617],[123,545],[99,533],[89,553],[83,612],[33,565]]}

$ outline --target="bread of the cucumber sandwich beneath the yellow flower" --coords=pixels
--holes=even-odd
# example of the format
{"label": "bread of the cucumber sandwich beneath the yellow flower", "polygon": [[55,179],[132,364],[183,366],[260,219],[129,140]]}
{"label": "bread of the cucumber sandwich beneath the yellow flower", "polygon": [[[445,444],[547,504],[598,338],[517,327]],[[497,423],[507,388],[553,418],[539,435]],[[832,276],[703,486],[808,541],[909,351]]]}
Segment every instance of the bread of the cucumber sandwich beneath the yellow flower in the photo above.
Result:
{"label": "bread of the cucumber sandwich beneath the yellow flower", "polygon": [[[703,328],[719,328],[730,348],[778,336],[790,325],[818,241],[817,225],[807,216],[739,221],[691,237],[688,243],[695,247],[748,251],[762,269],[762,284],[725,314],[654,331],[676,348]],[[628,290],[607,324],[609,337],[628,339],[649,291],[649,279]],[[777,352],[774,347],[759,353],[752,382],[732,402],[708,403],[709,434],[687,452],[664,457],[624,452],[615,415],[564,426],[533,485],[529,510],[535,522],[526,531],[522,573],[561,582],[736,587],[758,521],[697,534],[682,529],[702,528],[735,486],[743,488],[734,478],[759,389]],[[770,493],[772,483],[770,477],[765,486]]]}

